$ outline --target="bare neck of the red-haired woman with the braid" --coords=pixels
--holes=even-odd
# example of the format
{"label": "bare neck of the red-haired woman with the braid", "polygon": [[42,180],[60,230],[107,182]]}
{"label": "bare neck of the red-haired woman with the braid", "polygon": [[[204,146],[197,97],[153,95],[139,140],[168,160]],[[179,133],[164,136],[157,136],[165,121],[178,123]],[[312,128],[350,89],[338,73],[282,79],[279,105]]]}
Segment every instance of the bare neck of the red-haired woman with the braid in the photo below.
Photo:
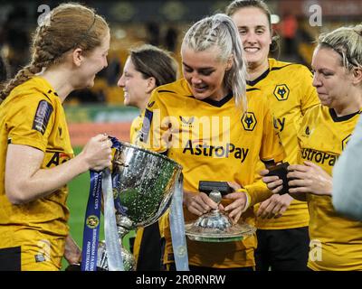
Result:
{"label": "bare neck of the red-haired woman with the braid", "polygon": [[62,68],[47,69],[40,76],[52,85],[52,88],[55,89],[62,102],[68,97],[71,91],[74,90],[71,86],[70,75],[67,74],[65,70],[62,70]]}

